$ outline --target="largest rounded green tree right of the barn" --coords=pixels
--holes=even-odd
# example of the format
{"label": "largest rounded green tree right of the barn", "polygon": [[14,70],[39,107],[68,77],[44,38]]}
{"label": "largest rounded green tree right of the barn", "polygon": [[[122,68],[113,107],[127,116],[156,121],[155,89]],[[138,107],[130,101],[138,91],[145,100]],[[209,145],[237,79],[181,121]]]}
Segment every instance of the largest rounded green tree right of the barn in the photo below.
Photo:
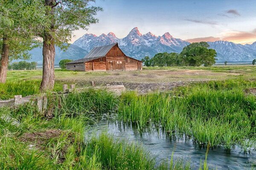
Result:
{"label": "largest rounded green tree right of the barn", "polygon": [[208,49],[207,42],[193,42],[183,48],[180,59],[183,65],[189,66],[210,66],[215,63],[217,53],[214,49]]}

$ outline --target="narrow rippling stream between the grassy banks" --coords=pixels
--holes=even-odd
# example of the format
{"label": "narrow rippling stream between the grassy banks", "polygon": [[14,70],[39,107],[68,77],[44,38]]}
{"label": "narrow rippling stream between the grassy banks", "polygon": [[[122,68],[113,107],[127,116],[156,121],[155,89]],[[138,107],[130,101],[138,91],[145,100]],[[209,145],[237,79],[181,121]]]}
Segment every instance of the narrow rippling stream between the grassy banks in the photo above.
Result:
{"label": "narrow rippling stream between the grassy banks", "polygon": [[[174,151],[174,159],[179,157],[190,160],[192,169],[198,169],[200,159],[204,162],[207,147],[194,144],[191,139],[170,137],[159,128],[144,129],[144,132],[140,132],[133,124],[114,121],[107,114],[91,118],[95,121],[90,130],[91,133],[108,131],[115,137],[141,142],[145,149],[156,155],[158,161],[166,160],[166,158],[170,160]],[[231,148],[231,151],[225,151],[223,147],[213,148],[209,150],[207,164],[209,169],[252,169],[256,165],[256,151],[251,150],[250,153],[244,153],[238,146]]]}

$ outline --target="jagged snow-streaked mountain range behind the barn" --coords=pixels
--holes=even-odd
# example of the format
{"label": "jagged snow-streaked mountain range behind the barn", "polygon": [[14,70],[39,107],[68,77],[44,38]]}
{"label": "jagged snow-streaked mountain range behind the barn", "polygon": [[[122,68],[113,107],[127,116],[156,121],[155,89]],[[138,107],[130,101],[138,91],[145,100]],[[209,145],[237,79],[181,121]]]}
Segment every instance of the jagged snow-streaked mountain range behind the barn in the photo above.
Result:
{"label": "jagged snow-streaked mountain range behind the barn", "polygon": [[[76,40],[67,51],[56,48],[55,63],[61,59],[80,59],[83,58],[93,47],[108,45],[118,42],[122,51],[137,59],[145,56],[153,57],[160,52],[177,52],[189,45],[190,42],[174,38],[169,32],[162,36],[156,36],[151,32],[141,34],[137,27],[133,28],[124,38],[117,38],[113,32],[96,36],[94,34],[84,34],[83,37]],[[210,48],[217,52],[217,62],[241,62],[252,61],[256,58],[256,42],[253,44],[236,44],[228,41],[208,42]],[[32,54],[31,61],[42,63],[42,49],[35,48],[30,51]]]}

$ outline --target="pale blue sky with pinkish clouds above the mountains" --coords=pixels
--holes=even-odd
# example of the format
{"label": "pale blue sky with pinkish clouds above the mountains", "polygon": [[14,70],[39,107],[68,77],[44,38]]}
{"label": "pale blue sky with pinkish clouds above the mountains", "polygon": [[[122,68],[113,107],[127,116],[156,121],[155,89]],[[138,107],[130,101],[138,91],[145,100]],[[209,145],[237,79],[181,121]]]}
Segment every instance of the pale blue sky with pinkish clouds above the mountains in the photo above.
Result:
{"label": "pale blue sky with pinkish clouds above the mountains", "polygon": [[256,41],[256,0],[96,0],[99,23],[77,30],[71,42],[86,33],[125,37],[132,28],[189,42],[225,40],[241,44]]}

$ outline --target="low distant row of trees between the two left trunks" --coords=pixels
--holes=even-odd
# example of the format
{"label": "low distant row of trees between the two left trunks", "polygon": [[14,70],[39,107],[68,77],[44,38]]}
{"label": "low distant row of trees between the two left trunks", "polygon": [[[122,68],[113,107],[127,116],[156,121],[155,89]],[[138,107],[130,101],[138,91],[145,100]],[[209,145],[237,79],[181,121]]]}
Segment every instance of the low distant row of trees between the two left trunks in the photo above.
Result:
{"label": "low distant row of trees between the two left trunks", "polygon": [[37,62],[26,62],[26,61],[20,61],[20,62],[13,62],[12,64],[8,65],[9,70],[35,70],[37,66]]}

